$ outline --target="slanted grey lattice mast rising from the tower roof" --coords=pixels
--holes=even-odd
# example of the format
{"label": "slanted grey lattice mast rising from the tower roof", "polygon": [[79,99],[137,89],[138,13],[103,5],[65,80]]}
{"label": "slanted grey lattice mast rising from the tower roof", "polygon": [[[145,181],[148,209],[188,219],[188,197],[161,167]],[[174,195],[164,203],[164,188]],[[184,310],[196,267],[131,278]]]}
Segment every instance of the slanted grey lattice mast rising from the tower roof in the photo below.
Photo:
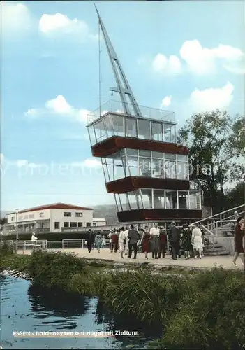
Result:
{"label": "slanted grey lattice mast rising from the tower roof", "polygon": [[[95,6],[95,8],[96,8],[96,6]],[[110,90],[119,93],[120,98],[121,98],[121,103],[124,107],[124,113],[131,115],[131,111],[130,111],[128,103],[126,101],[126,96],[128,96],[128,98],[130,99],[131,105],[133,107],[133,111],[134,111],[135,116],[142,117],[142,113],[140,112],[138,103],[137,103],[135,97],[133,96],[133,91],[131,90],[131,87],[128,83],[128,80],[126,78],[126,75],[125,75],[123,69],[121,68],[121,64],[119,62],[119,59],[117,57],[117,54],[116,54],[113,46],[112,46],[112,43],[110,41],[110,38],[107,34],[107,31],[105,29],[105,26],[104,26],[102,20],[101,20],[101,16],[99,15],[97,8],[96,8],[96,12],[98,15],[98,22],[99,22],[99,25],[101,25],[101,30],[103,32],[103,36],[105,39],[105,45],[106,45],[107,52],[108,52],[108,55],[110,58],[110,62],[112,64],[114,78],[117,82],[117,87],[111,87]]]}

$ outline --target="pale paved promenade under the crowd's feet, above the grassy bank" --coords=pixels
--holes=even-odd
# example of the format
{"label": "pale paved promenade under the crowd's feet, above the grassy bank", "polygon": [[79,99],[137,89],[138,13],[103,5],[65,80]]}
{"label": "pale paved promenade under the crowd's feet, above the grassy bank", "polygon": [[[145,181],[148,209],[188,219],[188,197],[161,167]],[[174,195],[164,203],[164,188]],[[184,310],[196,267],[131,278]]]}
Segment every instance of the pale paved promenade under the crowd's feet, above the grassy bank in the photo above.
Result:
{"label": "pale paved promenade under the crowd's feet, above the grassy bank", "polygon": [[[89,254],[87,249],[82,248],[60,248],[60,249],[49,249],[49,251],[64,251],[65,253],[75,253],[80,258],[86,259],[98,259],[98,260],[114,260],[115,262],[149,262],[154,265],[165,265],[165,266],[180,266],[180,267],[202,267],[210,269],[212,267],[223,267],[225,269],[243,269],[242,261],[240,258],[237,259],[237,267],[232,265],[232,256],[205,256],[202,259],[189,259],[184,260],[180,258],[176,261],[173,261],[170,255],[166,255],[165,259],[152,259],[151,254],[146,260],[143,253],[138,253],[137,259],[128,259],[126,256],[124,259],[120,257],[119,253],[111,253],[108,248],[98,253],[95,249]],[[18,252],[19,254],[30,254],[31,251],[22,251]]]}

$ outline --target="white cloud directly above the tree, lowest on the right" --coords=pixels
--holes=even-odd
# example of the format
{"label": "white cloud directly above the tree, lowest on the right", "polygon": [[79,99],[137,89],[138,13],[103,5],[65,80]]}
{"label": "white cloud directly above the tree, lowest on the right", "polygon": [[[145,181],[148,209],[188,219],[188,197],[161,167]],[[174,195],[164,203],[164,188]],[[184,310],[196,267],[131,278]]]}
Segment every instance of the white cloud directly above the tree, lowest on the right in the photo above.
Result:
{"label": "white cloud directly above the tree, lowest on the right", "polygon": [[189,104],[194,112],[227,109],[232,102],[233,90],[234,86],[229,82],[221,88],[195,89],[191,92]]}

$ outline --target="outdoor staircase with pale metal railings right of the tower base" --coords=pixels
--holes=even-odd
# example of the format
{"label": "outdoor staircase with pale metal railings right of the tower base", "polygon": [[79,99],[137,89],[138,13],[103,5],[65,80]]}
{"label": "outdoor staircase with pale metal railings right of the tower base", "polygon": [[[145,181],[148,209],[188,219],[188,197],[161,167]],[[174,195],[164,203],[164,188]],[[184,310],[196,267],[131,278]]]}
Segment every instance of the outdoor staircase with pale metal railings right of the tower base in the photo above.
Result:
{"label": "outdoor staircase with pale metal railings right of the tower base", "polygon": [[238,216],[244,216],[245,204],[195,221],[205,232],[206,255],[230,255],[233,253],[233,237]]}

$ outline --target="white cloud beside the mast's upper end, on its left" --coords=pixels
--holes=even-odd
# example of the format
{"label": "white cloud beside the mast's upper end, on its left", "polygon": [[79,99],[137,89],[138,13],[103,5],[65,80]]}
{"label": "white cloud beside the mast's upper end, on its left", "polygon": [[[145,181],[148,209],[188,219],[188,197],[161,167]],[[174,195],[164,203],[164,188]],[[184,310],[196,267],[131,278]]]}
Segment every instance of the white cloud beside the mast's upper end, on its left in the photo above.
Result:
{"label": "white cloud beside the mast's upper end, on its left", "polygon": [[79,40],[96,40],[98,34],[93,34],[86,22],[66,15],[55,13],[55,15],[44,14],[39,20],[39,30],[46,36],[68,34],[79,38]]}

